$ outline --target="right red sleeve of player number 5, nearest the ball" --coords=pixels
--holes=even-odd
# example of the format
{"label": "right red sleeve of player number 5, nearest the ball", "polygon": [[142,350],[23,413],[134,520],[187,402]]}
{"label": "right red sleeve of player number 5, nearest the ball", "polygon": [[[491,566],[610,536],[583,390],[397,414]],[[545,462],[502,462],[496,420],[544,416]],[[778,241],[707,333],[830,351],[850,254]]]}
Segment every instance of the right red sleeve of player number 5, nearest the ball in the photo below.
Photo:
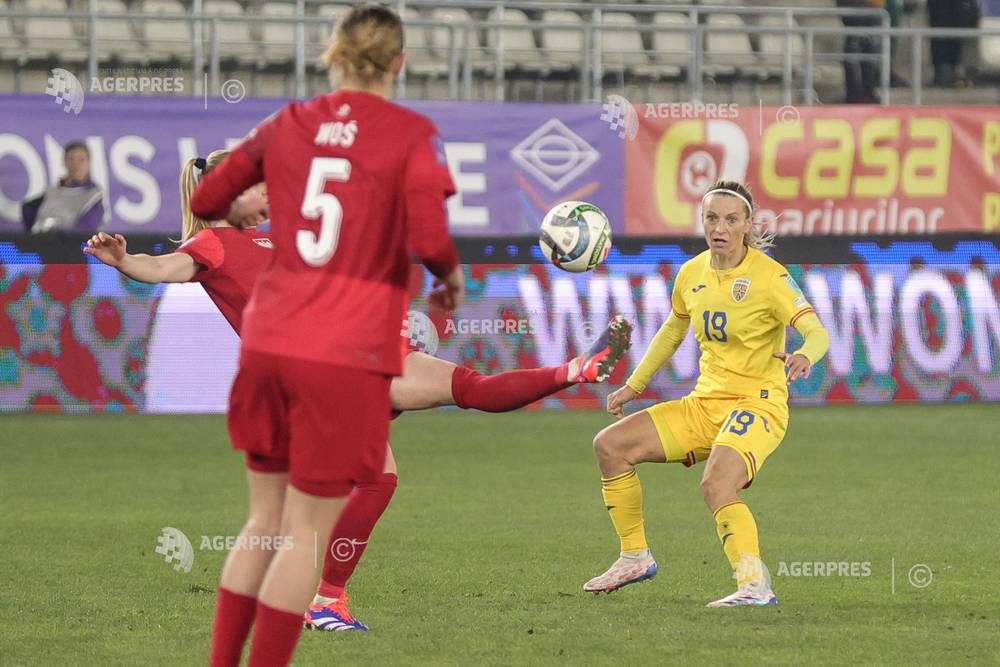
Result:
{"label": "right red sleeve of player number 5, nearest the ball", "polygon": [[445,200],[455,194],[455,184],[445,161],[444,145],[433,125],[410,150],[403,191],[410,247],[431,273],[443,278],[458,266],[445,211]]}

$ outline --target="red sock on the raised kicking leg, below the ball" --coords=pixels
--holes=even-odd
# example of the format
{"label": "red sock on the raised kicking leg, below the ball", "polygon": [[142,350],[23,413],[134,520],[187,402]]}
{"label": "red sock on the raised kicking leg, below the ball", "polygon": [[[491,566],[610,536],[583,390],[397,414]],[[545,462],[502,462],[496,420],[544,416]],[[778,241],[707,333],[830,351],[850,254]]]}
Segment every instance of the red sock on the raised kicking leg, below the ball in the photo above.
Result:
{"label": "red sock on the raised kicking leg, below the ball", "polygon": [[458,366],[451,375],[451,395],[460,408],[508,412],[523,408],[573,383],[567,381],[569,364],[555,368],[530,368],[482,375]]}

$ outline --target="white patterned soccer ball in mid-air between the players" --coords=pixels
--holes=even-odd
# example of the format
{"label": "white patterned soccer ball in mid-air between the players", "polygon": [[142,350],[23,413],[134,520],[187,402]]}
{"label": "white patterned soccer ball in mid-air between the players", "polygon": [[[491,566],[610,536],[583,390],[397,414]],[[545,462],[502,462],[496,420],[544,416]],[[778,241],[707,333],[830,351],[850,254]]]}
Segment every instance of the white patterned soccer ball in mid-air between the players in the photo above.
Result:
{"label": "white patterned soccer ball in mid-air between the players", "polygon": [[611,223],[593,204],[564,201],[545,214],[538,247],[563,271],[590,271],[611,251]]}

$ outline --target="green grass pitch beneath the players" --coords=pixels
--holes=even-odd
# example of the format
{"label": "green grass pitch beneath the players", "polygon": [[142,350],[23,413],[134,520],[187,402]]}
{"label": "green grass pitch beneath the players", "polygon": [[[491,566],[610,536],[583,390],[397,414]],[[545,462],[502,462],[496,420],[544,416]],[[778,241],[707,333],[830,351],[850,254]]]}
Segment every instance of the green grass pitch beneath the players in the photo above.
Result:
{"label": "green grass pitch beneath the players", "polygon": [[[406,415],[349,587],[373,631],[306,633],[295,664],[997,664],[998,413],[793,408],[744,494],[781,605],[728,610],[704,607],[733,583],[700,467],[640,468],[660,574],[594,597],[617,551],[590,445],[606,415]],[[245,504],[224,420],[4,416],[0,434],[0,664],[206,664],[225,554],[200,536],[235,535]],[[191,572],[154,553],[163,526],[191,538]],[[814,561],[870,576],[776,574]]]}

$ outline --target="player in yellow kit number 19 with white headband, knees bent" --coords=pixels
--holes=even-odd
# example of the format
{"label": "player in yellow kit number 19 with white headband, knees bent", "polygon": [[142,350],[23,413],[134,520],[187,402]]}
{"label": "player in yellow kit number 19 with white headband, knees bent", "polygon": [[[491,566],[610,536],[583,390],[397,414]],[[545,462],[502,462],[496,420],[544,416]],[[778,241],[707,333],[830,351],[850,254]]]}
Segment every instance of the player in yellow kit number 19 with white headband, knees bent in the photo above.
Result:
{"label": "player in yellow kit number 19 with white headband, knees bent", "polygon": [[[761,252],[772,245],[771,237],[754,225],[747,188],[720,181],[705,194],[702,208],[708,250],[678,271],[670,316],[625,386],[608,396],[608,412],[619,421],[594,438],[621,556],[583,589],[611,592],[656,575],[635,466],[692,466],[707,459],[701,492],[737,580],[734,594],[708,606],[777,604],[760,560],[757,524],[739,492],[753,483],[785,435],[787,385],[809,377],[829,337],[788,270]],[[804,338],[791,354],[784,351],[788,325]],[[701,350],[694,391],[624,417],[623,406],[670,359],[688,326]]]}

